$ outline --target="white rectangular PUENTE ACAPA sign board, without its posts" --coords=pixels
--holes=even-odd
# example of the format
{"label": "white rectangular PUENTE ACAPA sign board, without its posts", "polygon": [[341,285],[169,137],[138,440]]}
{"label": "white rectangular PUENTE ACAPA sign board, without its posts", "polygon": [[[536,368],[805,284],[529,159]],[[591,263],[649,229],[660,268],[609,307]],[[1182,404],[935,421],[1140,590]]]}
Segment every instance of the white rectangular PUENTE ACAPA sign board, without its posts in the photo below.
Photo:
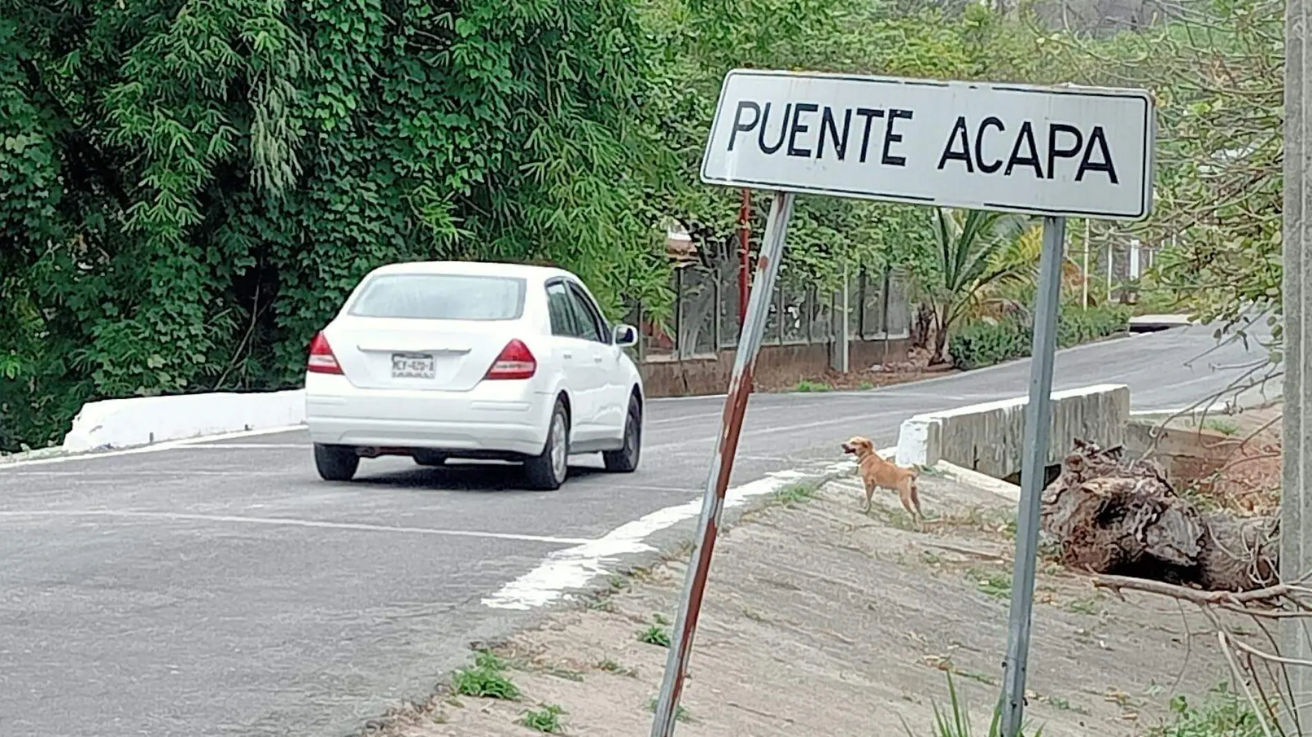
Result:
{"label": "white rectangular PUENTE ACAPA sign board, without its posts", "polygon": [[1138,89],[735,70],[702,181],[1138,220],[1152,207],[1153,136]]}

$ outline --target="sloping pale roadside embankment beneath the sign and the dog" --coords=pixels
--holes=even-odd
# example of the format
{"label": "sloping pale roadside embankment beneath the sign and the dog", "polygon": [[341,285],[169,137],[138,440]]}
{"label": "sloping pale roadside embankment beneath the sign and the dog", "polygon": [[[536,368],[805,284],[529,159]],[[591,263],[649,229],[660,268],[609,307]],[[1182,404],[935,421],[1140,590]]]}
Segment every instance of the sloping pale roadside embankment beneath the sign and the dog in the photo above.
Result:
{"label": "sloping pale roadside embankment beneath the sign and the dog", "polygon": [[[938,517],[924,531],[891,494],[861,514],[855,481],[842,480],[790,490],[722,538],[680,734],[903,734],[905,723],[928,736],[946,671],[987,730],[1006,643],[1012,504],[943,477],[921,488]],[[527,719],[565,734],[647,734],[682,573],[670,563],[617,577],[491,644],[504,669],[485,658],[492,667],[472,681],[512,683],[516,700],[443,687],[383,732],[525,736]],[[1113,599],[1050,561],[1036,597],[1029,713],[1044,733],[1143,734],[1172,695],[1223,679],[1204,623],[1173,603]]]}

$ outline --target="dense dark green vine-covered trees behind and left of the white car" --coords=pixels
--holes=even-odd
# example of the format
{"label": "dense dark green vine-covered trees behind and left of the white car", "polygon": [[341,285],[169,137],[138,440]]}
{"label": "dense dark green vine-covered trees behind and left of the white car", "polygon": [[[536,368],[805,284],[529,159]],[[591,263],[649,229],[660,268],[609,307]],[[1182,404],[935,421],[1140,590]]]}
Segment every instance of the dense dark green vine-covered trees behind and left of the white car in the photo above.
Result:
{"label": "dense dark green vine-covered trees behind and left of the white car", "polygon": [[387,261],[550,260],[617,302],[655,262],[644,43],[627,0],[7,4],[0,446],[293,382]]}

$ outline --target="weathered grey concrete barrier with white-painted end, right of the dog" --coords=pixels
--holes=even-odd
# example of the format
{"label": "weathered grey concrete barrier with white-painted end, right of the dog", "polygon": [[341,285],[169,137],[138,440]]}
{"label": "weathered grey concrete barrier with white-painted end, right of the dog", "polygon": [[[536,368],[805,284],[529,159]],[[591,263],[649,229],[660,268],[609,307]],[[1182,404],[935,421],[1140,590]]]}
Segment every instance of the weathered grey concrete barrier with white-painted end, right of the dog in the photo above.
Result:
{"label": "weathered grey concrete barrier with white-painted end, right of the dog", "polygon": [[[1018,473],[1027,403],[1022,396],[917,414],[901,425],[897,463],[933,466],[946,460],[994,479]],[[1105,447],[1122,445],[1128,421],[1130,387],[1124,384],[1052,392],[1048,464],[1060,463],[1075,438]]]}

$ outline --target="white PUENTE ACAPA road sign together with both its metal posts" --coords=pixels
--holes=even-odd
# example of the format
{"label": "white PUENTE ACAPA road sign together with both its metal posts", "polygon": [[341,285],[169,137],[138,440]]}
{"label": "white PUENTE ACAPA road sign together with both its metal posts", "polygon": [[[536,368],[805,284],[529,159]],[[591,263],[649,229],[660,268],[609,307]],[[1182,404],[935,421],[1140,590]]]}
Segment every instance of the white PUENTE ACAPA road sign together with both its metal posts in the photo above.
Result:
{"label": "white PUENTE ACAPA road sign together with both its metal posts", "polygon": [[702,159],[702,181],[773,189],[775,195],[724,397],[720,435],[706,477],[702,515],[656,699],[652,737],[674,734],[674,716],[752,392],[752,371],[783,258],[794,193],[1043,215],[1017,553],[1000,699],[1002,734],[1019,734],[1065,218],[1147,216],[1152,206],[1153,132],[1152,98],[1135,89],[741,70],[724,77]]}

